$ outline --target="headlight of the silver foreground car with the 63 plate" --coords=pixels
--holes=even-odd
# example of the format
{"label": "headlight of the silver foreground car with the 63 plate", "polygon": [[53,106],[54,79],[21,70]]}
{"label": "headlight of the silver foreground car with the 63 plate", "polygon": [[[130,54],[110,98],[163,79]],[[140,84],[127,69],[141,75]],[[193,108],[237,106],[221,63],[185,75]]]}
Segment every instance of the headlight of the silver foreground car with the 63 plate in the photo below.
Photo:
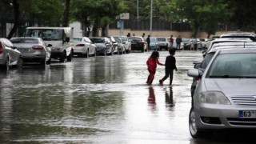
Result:
{"label": "headlight of the silver foreground car with the 63 plate", "polygon": [[218,104],[218,105],[230,105],[230,101],[226,98],[225,94],[220,91],[206,91],[202,92],[199,96],[199,100],[202,103]]}

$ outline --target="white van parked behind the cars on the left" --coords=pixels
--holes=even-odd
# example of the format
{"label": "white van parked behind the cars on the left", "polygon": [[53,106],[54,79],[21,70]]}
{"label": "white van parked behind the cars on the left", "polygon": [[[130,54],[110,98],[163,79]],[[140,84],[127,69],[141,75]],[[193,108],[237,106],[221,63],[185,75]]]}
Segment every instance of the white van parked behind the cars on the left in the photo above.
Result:
{"label": "white van parked behind the cars on the left", "polygon": [[27,27],[26,37],[39,37],[52,45],[50,58],[71,62],[74,53],[73,27]]}

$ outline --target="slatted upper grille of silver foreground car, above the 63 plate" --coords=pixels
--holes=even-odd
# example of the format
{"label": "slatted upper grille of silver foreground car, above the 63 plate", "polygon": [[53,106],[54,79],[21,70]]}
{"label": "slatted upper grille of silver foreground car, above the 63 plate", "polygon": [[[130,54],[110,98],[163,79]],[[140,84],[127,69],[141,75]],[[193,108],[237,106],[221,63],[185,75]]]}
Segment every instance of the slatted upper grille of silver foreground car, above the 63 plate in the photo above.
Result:
{"label": "slatted upper grille of silver foreground car, above the 63 plate", "polygon": [[254,96],[234,96],[230,98],[232,99],[235,105],[256,106],[256,97]]}

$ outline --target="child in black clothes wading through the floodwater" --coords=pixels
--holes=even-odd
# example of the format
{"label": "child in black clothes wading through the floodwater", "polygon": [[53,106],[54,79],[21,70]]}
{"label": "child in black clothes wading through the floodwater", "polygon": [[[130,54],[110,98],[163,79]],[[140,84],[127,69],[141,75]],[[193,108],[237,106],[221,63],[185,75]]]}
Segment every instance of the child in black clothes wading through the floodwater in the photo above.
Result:
{"label": "child in black clothes wading through the floodwater", "polygon": [[166,78],[168,78],[170,76],[170,83],[169,85],[172,85],[173,82],[173,76],[174,76],[174,70],[177,71],[177,67],[176,67],[176,58],[174,57],[175,55],[175,50],[174,49],[169,49],[169,54],[166,57],[166,75],[159,80],[160,85],[163,85],[163,82],[166,80]]}

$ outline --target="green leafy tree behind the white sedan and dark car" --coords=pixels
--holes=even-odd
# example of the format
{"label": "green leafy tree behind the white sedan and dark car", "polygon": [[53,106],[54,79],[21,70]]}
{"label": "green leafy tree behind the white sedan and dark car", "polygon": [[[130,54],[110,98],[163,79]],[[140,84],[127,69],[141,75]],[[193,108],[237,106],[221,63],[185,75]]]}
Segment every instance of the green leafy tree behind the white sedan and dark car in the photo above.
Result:
{"label": "green leafy tree behind the white sedan and dark car", "polygon": [[[105,31],[107,24],[114,22],[114,19],[125,10],[123,0],[87,0],[85,2],[71,2],[72,21],[82,22],[86,30],[93,27],[93,36],[97,35],[99,28]],[[86,31],[89,36],[88,31]],[[104,34],[102,34],[104,35]]]}

